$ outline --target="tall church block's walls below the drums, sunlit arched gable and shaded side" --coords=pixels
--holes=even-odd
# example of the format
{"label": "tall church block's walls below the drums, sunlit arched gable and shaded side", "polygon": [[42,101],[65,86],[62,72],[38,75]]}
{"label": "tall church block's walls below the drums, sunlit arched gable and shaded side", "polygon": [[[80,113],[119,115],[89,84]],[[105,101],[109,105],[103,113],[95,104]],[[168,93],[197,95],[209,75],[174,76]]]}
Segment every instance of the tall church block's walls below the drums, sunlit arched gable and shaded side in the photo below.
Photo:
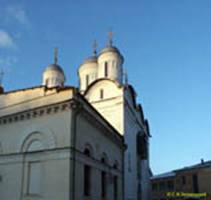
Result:
{"label": "tall church block's walls below the drums, sunlit arched gable and shaded side", "polygon": [[[100,89],[105,91],[103,99],[99,98]],[[142,200],[148,200],[149,163],[138,158],[136,148],[137,134],[145,127],[132,92],[129,87],[124,89],[111,80],[99,80],[86,92],[86,98],[124,136],[127,145],[124,155],[125,200],[136,200],[138,191],[141,191]],[[138,162],[140,168],[137,168]],[[138,171],[142,177],[140,186]]]}

